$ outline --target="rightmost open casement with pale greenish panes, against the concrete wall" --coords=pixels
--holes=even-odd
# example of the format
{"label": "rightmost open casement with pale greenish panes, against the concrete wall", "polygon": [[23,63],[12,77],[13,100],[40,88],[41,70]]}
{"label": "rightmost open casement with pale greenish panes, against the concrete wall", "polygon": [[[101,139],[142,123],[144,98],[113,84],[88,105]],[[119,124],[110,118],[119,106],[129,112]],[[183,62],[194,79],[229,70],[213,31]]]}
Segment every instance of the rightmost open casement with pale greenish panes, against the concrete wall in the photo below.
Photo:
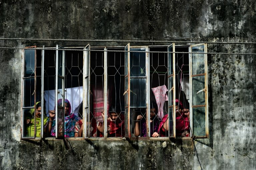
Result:
{"label": "rightmost open casement with pale greenish panes, against the concrete wall", "polygon": [[[190,127],[192,137],[208,137],[207,44],[191,45],[190,53]],[[192,117],[192,118],[191,118]]]}

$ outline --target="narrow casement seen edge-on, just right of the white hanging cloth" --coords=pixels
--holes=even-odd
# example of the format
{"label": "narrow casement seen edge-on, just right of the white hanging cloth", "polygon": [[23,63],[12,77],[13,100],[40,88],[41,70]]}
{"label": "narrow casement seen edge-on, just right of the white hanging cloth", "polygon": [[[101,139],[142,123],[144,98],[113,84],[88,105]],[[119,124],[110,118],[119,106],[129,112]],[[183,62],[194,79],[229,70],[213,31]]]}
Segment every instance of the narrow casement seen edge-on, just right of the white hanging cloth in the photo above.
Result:
{"label": "narrow casement seen edge-on, just right of the white hanging cloth", "polygon": [[84,81],[83,81],[83,136],[84,138],[89,137],[89,120],[90,120],[90,44],[88,44],[86,47],[84,47],[83,52],[83,75],[84,75]]}

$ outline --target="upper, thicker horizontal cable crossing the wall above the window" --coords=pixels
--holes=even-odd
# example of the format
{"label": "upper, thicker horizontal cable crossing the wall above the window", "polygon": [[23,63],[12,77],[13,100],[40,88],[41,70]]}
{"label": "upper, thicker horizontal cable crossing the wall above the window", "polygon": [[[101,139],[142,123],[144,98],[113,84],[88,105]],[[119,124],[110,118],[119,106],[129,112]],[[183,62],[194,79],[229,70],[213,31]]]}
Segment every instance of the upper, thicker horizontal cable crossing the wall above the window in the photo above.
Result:
{"label": "upper, thicker horizontal cable crossing the wall above the window", "polygon": [[256,42],[200,42],[200,41],[145,41],[145,40],[82,40],[82,39],[25,39],[0,38],[0,40],[18,41],[75,41],[75,42],[161,42],[161,43],[212,43],[212,44],[256,44]]}

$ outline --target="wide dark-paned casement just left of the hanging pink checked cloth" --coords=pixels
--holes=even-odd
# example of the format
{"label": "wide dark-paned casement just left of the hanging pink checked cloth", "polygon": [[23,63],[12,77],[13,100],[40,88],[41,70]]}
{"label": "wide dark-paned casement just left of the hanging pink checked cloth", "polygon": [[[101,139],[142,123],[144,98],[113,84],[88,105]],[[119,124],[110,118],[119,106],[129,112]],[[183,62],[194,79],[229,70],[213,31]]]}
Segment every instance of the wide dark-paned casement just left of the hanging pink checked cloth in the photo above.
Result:
{"label": "wide dark-paned casement just left of the hanging pink checked cloth", "polygon": [[[128,69],[128,128],[129,137],[149,137],[148,133],[148,53],[146,46],[130,46],[126,68]],[[127,80],[126,80],[127,82]],[[140,120],[137,117],[140,116]],[[137,127],[137,128],[136,128]],[[136,130],[137,129],[137,130]]]}

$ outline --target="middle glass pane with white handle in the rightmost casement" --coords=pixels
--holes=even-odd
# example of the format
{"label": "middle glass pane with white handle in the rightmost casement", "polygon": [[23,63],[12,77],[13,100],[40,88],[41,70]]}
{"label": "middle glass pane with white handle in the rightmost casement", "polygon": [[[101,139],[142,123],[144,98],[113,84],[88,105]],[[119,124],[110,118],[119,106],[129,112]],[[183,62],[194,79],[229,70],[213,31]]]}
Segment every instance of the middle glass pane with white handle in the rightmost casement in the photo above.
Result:
{"label": "middle glass pane with white handle in the rightmost casement", "polygon": [[196,94],[198,91],[205,88],[205,76],[196,76],[192,77],[192,105],[205,105],[205,92],[201,91]]}

